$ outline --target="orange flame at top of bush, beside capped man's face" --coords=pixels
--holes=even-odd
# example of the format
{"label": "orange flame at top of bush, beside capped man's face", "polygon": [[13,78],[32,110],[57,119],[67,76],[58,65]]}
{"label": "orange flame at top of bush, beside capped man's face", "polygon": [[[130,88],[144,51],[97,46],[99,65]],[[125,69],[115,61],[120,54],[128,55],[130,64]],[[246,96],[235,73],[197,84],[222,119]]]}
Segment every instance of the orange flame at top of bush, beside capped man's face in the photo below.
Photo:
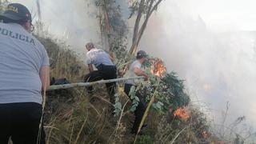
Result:
{"label": "orange flame at top of bush, beside capped man's face", "polygon": [[162,77],[165,71],[166,67],[164,66],[161,60],[156,60],[155,62],[152,62],[151,74],[154,74],[158,77]]}

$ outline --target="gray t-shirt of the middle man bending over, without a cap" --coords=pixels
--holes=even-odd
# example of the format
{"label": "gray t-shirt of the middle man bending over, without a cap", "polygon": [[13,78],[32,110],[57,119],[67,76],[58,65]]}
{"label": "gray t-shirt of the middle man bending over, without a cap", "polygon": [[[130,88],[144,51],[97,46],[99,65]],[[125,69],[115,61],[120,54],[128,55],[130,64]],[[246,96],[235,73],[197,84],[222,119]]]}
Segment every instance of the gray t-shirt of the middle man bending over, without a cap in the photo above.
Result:
{"label": "gray t-shirt of the middle man bending over, without a cap", "polygon": [[114,63],[110,59],[110,55],[104,50],[92,49],[86,53],[87,64],[93,64],[94,66],[99,66],[101,64],[105,66],[114,66]]}

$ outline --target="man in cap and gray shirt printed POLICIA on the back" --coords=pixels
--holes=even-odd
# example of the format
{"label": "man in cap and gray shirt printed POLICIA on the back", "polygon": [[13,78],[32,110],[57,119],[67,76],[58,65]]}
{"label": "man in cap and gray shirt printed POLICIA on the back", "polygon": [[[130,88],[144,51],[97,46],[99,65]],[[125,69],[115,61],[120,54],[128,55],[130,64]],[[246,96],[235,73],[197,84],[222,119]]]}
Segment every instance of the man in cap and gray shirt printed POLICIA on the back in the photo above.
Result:
{"label": "man in cap and gray shirt printed POLICIA on the back", "polygon": [[30,11],[12,3],[0,16],[0,143],[45,143],[42,90],[50,85],[46,49],[30,32]]}

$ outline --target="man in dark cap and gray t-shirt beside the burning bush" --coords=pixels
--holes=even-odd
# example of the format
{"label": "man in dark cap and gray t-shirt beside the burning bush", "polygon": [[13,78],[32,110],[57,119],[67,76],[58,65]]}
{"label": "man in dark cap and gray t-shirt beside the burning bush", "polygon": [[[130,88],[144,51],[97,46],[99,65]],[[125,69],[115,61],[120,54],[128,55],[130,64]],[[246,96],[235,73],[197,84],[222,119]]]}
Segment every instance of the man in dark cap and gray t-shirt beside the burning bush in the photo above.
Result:
{"label": "man in dark cap and gray t-shirt beside the burning bush", "polygon": [[[134,61],[128,70],[128,77],[136,77],[136,76],[144,76],[146,79],[148,78],[148,75],[142,70],[142,64],[146,62],[147,54],[145,51],[140,50],[137,53],[137,60]],[[125,93],[130,97],[130,89],[132,86],[137,86],[137,83],[134,79],[130,79],[126,82],[124,91]],[[140,122],[142,121],[143,114],[146,110],[146,102],[145,102],[145,95],[142,95],[139,91],[135,94],[139,98],[137,109],[134,111],[135,120],[134,124],[131,130],[132,134],[137,134],[138,127],[140,125]]]}

